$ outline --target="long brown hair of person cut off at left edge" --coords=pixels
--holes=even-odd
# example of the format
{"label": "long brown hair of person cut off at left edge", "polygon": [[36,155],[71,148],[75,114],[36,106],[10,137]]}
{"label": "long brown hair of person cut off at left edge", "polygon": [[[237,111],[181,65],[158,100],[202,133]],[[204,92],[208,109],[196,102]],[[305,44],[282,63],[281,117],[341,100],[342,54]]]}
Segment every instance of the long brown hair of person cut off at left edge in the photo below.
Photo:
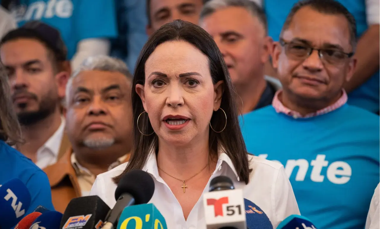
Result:
{"label": "long brown hair of person cut off at left edge", "polygon": [[9,145],[23,143],[21,127],[14,111],[4,66],[0,63],[0,140]]}

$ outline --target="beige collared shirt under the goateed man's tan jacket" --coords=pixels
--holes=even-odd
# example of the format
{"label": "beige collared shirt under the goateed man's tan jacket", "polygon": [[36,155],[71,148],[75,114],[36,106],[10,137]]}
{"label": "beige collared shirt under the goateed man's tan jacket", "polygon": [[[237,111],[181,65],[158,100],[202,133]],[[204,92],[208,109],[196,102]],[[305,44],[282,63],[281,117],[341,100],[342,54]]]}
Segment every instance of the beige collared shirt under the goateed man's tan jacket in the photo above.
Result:
{"label": "beige collared shirt under the goateed man's tan jacket", "polygon": [[[119,157],[116,162],[112,163],[108,170],[113,169],[114,167],[122,164],[125,159],[127,158],[127,154],[125,154],[122,157]],[[81,164],[78,163],[75,157],[75,153],[71,154],[71,165],[73,165],[73,168],[75,170],[79,188],[81,189],[82,196],[89,196],[90,190],[92,187],[92,184],[95,182],[95,175],[93,175],[90,170],[83,167]]]}

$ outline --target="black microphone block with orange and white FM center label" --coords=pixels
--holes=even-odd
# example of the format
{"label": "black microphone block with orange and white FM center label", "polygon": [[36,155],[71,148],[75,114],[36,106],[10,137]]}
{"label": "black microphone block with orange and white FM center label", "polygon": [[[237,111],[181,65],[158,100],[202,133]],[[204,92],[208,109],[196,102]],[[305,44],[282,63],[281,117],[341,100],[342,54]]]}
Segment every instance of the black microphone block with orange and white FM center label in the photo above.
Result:
{"label": "black microphone block with orange and white FM center label", "polygon": [[98,196],[84,196],[70,200],[63,213],[60,229],[99,229],[109,212],[108,205]]}

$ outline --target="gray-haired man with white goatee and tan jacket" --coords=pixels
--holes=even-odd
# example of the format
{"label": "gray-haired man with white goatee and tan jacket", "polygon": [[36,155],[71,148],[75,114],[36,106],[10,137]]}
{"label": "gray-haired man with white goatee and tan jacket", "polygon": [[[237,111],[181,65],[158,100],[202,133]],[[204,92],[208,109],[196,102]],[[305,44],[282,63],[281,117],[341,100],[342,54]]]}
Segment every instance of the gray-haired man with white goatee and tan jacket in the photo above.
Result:
{"label": "gray-haired man with white goatee and tan jacket", "polygon": [[131,78],[122,60],[89,57],[66,88],[66,130],[72,148],[44,169],[57,211],[87,196],[98,174],[128,161],[131,151]]}

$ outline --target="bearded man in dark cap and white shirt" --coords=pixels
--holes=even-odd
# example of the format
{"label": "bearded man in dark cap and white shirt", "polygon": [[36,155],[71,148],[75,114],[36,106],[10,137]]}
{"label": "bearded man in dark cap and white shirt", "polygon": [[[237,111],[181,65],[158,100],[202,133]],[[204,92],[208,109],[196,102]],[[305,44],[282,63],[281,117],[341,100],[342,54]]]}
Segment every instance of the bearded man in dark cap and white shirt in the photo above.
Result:
{"label": "bearded man in dark cap and white shirt", "polygon": [[60,102],[69,77],[66,56],[59,32],[41,22],[28,22],[0,41],[0,59],[25,139],[16,148],[41,169],[57,162],[68,145]]}

